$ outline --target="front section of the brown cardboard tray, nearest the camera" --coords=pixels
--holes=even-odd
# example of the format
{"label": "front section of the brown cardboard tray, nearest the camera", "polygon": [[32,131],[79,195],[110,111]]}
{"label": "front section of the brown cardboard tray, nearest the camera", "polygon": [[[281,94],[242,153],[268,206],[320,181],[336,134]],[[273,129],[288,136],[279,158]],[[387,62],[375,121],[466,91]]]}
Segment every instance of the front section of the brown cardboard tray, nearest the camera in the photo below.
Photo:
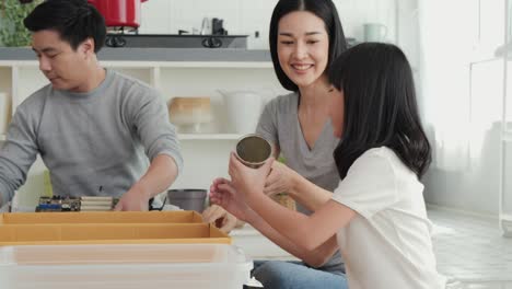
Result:
{"label": "front section of the brown cardboard tray, nearest the camera", "polygon": [[0,226],[0,246],[172,243],[231,244],[231,238],[209,223],[39,223]]}

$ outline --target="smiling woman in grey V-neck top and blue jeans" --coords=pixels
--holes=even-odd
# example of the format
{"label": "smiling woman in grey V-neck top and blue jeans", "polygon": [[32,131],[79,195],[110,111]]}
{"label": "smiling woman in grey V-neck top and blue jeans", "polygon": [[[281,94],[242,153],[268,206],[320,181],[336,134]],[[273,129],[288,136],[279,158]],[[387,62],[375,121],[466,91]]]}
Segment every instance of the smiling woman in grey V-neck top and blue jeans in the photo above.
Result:
{"label": "smiling woman in grey V-neck top and blue jeans", "polygon": [[[331,157],[339,138],[333,135],[328,115],[333,89],[327,70],[346,49],[345,35],[330,0],[280,0],[272,13],[269,36],[276,74],[292,93],[269,102],[256,129],[275,143],[276,157],[286,159],[286,165],[274,163],[265,193],[271,196],[286,192],[298,201],[300,211],[310,212],[329,199],[339,182]],[[307,189],[314,185],[325,190]],[[203,216],[213,221],[223,212],[213,206]],[[223,221],[224,231],[235,223],[231,216]],[[256,262],[254,276],[265,288],[339,288],[345,282],[339,254],[321,267],[311,265]],[[291,277],[290,271],[296,274]],[[325,281],[318,284],[321,279]]]}

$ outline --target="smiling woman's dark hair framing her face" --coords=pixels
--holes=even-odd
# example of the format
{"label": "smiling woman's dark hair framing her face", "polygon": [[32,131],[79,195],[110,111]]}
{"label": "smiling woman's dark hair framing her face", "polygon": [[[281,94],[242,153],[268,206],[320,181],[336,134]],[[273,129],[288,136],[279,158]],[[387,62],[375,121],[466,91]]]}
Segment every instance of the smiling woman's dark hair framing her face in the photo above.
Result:
{"label": "smiling woman's dark hair framing her face", "polygon": [[325,30],[329,35],[329,58],[326,71],[328,71],[333,61],[347,49],[347,42],[336,5],[331,0],[279,0],[274,8],[272,18],[270,19],[270,55],[272,57],[274,70],[281,85],[289,91],[296,92],[299,91],[299,86],[282,70],[277,53],[279,21],[284,15],[295,11],[311,12],[324,21]]}

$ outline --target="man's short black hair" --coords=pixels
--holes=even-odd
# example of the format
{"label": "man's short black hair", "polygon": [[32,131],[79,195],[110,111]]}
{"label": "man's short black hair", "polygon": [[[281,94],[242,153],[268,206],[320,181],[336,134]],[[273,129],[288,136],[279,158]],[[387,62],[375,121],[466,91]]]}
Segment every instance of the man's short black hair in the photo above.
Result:
{"label": "man's short black hair", "polygon": [[88,38],[94,39],[94,53],[105,43],[106,26],[102,14],[86,0],[47,0],[23,21],[31,32],[53,30],[73,50]]}

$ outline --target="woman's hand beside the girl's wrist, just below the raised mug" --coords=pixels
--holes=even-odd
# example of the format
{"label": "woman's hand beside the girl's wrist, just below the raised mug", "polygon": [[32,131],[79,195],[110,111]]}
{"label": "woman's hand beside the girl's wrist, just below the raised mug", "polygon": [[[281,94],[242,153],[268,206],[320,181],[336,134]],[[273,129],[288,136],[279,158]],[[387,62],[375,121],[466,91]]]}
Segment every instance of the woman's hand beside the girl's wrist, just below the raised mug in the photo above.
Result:
{"label": "woman's hand beside the girl's wrist, just below the raised mug", "polygon": [[288,193],[294,187],[295,171],[280,162],[274,162],[270,174],[265,182],[264,193],[274,196],[279,193]]}

